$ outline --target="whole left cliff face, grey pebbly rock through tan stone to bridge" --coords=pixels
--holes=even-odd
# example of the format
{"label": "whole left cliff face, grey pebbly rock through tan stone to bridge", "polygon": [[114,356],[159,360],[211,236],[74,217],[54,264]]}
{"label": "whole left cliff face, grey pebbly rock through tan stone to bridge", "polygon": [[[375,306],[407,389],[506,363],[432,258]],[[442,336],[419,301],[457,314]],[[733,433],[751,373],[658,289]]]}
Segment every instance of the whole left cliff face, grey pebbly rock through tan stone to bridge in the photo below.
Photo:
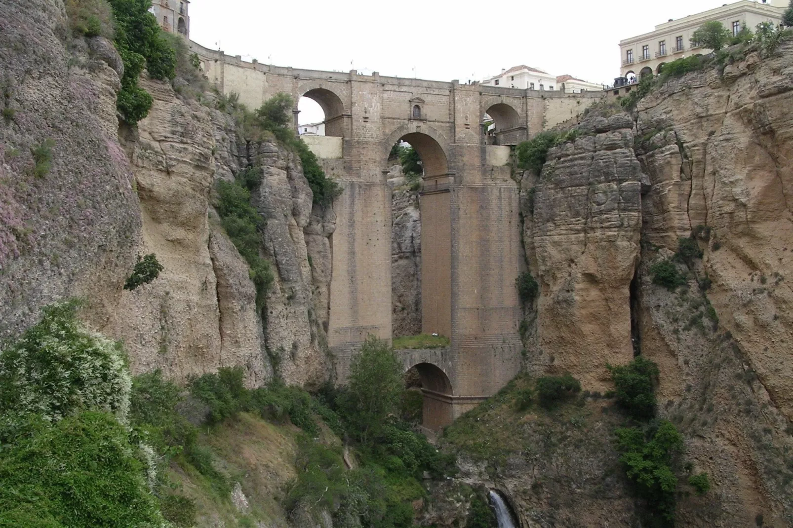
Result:
{"label": "whole left cliff face, grey pebbly rock through tan stone to bridge", "polygon": [[[83,318],[125,342],[133,373],[159,368],[183,381],[242,365],[253,386],[277,363],[287,383],[327,380],[335,216],[312,209],[299,159],[275,143],[247,143],[211,100],[186,101],[146,78],[154,105],[120,142],[123,66],[113,44],[72,37],[61,2],[5,2],[2,15],[2,336],[45,304],[85,297]],[[247,262],[212,208],[216,180],[249,163],[261,166],[261,253],[276,276],[263,321]],[[124,290],[136,255],[148,253],[163,272]]]}

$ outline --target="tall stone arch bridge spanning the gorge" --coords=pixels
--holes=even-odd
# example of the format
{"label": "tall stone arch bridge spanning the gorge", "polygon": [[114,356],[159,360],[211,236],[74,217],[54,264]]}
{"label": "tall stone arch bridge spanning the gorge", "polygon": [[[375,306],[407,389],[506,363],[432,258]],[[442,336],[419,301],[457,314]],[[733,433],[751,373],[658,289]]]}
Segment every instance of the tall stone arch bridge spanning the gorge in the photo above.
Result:
{"label": "tall stone arch bridge spanning the gorge", "polygon": [[[408,141],[421,157],[422,331],[445,349],[400,350],[424,383],[424,423],[439,428],[492,396],[519,370],[524,266],[519,191],[509,146],[576,119],[602,93],[563,94],[499,86],[299,70],[244,62],[191,43],[210,82],[258,108],[274,94],[308,97],[325,134],[307,139],[344,188],[334,202],[328,341],[337,380],[366,335],[392,339],[389,152]],[[496,128],[486,133],[485,114]]]}

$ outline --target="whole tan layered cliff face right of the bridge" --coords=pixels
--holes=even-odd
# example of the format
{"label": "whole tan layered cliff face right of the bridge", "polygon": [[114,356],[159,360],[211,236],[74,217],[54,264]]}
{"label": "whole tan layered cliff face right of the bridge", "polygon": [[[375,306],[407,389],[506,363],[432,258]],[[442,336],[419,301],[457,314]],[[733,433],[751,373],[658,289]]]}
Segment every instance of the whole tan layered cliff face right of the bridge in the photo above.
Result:
{"label": "whole tan layered cliff face right of the bridge", "polygon": [[[524,243],[540,283],[527,367],[603,390],[605,362],[634,351],[657,362],[659,415],[714,484],[680,499],[680,526],[793,518],[790,108],[787,43],[723,76],[670,79],[633,116],[590,117],[539,178],[523,174]],[[676,264],[688,285],[653,284],[650,266],[691,236],[703,257]]]}

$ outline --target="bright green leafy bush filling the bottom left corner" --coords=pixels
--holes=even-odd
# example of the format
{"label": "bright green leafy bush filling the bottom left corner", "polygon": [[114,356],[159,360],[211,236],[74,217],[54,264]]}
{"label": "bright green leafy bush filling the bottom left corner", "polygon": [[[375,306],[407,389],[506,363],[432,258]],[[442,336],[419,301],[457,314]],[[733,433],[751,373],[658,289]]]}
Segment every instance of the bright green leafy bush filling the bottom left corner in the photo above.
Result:
{"label": "bright green leafy bush filling the bottom left corner", "polygon": [[[83,411],[0,451],[0,526],[161,526],[163,518],[117,419]],[[57,520],[56,520],[57,519]]]}

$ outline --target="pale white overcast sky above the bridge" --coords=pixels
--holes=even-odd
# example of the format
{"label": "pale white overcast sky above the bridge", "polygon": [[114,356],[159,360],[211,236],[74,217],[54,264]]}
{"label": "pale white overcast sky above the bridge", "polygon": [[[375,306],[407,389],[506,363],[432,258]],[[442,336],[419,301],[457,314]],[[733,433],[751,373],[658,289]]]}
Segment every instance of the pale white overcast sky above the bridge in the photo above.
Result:
{"label": "pale white overcast sky above the bridge", "polygon": [[[619,41],[722,0],[192,0],[190,38],[228,55],[312,70],[465,83],[518,64],[611,84]],[[301,124],[322,121],[299,103]]]}

